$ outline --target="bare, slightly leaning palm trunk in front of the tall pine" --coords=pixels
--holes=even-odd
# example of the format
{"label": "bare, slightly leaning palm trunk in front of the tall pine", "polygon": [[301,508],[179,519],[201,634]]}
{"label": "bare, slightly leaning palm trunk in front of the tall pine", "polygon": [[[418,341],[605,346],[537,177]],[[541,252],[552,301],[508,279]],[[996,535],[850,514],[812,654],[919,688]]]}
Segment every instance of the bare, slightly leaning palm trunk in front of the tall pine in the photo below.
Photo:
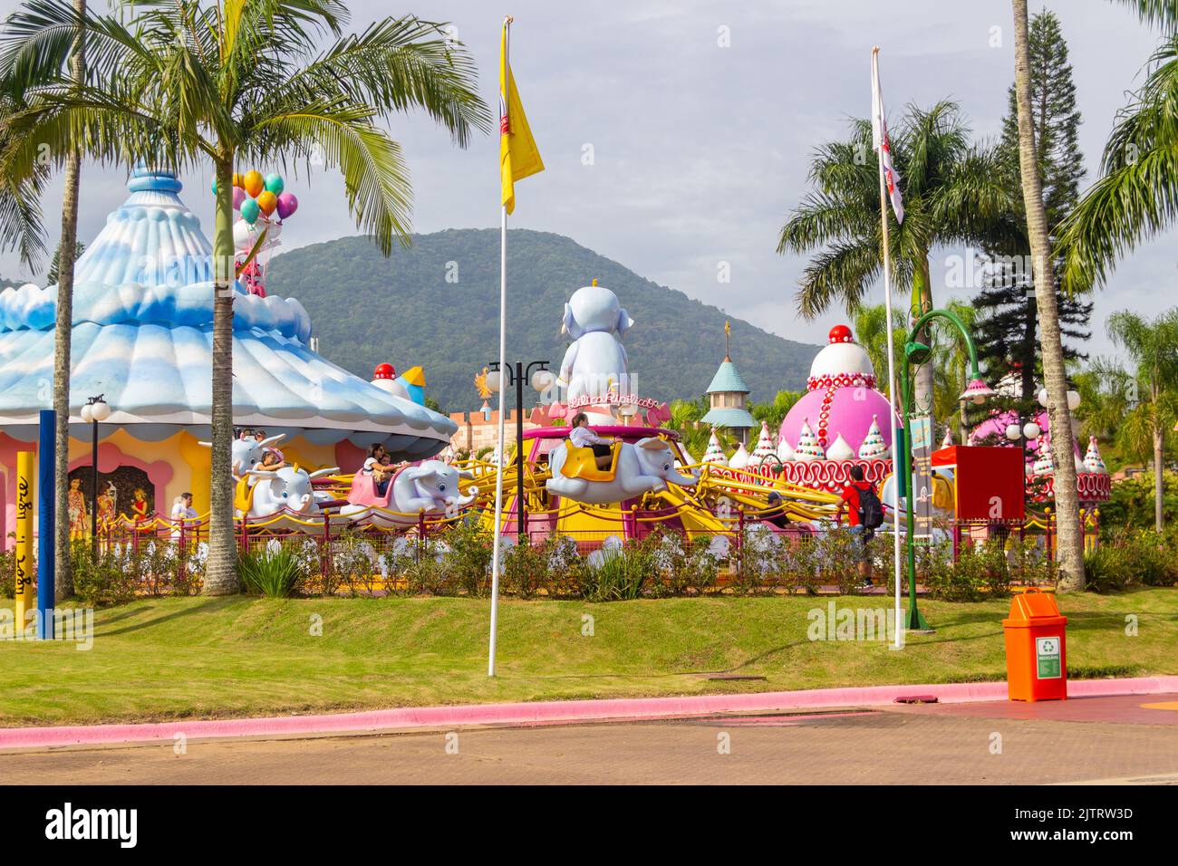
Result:
{"label": "bare, slightly leaning palm trunk in front of the tall pine", "polygon": [[1052,457],[1055,464],[1054,494],[1058,516],[1059,588],[1084,589],[1084,537],[1080,528],[1080,500],[1076,488],[1072,455],[1072,418],[1067,408],[1067,370],[1055,298],[1055,273],[1047,233],[1047,211],[1043,201],[1043,178],[1031,117],[1031,48],[1027,35],[1027,0],[1014,4],[1014,93],[1019,119],[1019,170],[1023,176],[1023,203],[1027,237],[1031,242],[1032,275],[1039,312],[1039,345],[1047,388],[1047,417],[1051,422]]}

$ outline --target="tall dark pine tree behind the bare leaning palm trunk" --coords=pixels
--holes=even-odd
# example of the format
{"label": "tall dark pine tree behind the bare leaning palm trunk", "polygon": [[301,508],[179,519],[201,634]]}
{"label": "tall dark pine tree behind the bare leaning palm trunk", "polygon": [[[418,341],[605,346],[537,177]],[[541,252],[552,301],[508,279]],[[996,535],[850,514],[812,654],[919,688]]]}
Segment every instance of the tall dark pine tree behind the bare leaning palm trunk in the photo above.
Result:
{"label": "tall dark pine tree behind the bare leaning palm trunk", "polygon": [[[1030,48],[1035,146],[1047,225],[1054,237],[1055,226],[1076,205],[1084,177],[1078,135],[1080,112],[1076,107],[1072,65],[1067,61],[1067,42],[1054,13],[1044,11],[1032,19]],[[988,247],[986,253],[1004,262],[1030,263],[1031,242],[1020,194],[1014,85],[1010,88],[1010,107],[1002,121],[998,156],[999,170],[1012,191],[1012,199],[1018,203],[1018,211],[1011,214],[1011,243]],[[1033,410],[1038,390],[1034,383],[1043,376],[1038,351],[1038,310],[1030,270],[1018,265],[999,269],[990,285],[973,300],[980,313],[978,345],[991,382],[1013,373],[1019,381],[1019,397],[1004,402],[1023,412]],[[1087,330],[1091,316],[1091,303],[1066,296],[1059,298],[1059,323],[1066,341],[1064,356],[1068,361],[1086,357],[1076,346],[1092,336]]]}

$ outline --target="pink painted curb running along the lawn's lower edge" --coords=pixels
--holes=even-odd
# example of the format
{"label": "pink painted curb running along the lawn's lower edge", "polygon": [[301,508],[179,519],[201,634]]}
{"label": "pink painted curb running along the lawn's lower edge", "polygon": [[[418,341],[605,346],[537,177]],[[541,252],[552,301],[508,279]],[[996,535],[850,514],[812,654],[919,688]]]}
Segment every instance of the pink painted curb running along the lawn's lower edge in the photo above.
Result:
{"label": "pink painted curb running along the lawn's lower edge", "polygon": [[[1070,698],[1107,698],[1178,692],[1178,676],[1124,680],[1072,680]],[[905,695],[935,695],[941,703],[1006,700],[1005,682],[939,686],[863,686],[799,692],[681,698],[621,698],[589,701],[478,703],[454,707],[403,707],[332,715],[291,715],[270,719],[213,719],[145,725],[0,728],[0,748],[53,748],[91,743],[151,742],[192,738],[276,736],[384,729],[458,727],[472,725],[540,725],[604,720],[669,719],[714,713],[759,713],[781,709],[821,709],[889,705]]]}

